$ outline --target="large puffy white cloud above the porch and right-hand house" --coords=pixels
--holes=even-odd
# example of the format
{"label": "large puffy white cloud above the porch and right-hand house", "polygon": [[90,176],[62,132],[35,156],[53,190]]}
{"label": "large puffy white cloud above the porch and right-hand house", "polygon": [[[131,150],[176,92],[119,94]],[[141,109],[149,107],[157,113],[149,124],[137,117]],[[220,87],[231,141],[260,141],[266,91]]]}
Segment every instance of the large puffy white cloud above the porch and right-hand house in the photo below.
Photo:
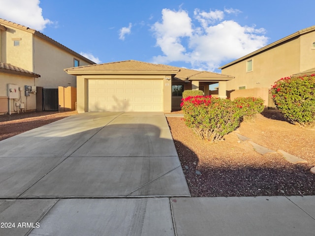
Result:
{"label": "large puffy white cloud above the porch and right-hand house", "polygon": [[187,11],[163,9],[162,21],[152,27],[156,46],[163,55],[153,57],[153,62],[184,61],[194,69],[215,71],[222,61],[240,58],[267,44],[265,29],[224,20],[224,12],[238,14],[241,11],[195,9],[191,19]]}

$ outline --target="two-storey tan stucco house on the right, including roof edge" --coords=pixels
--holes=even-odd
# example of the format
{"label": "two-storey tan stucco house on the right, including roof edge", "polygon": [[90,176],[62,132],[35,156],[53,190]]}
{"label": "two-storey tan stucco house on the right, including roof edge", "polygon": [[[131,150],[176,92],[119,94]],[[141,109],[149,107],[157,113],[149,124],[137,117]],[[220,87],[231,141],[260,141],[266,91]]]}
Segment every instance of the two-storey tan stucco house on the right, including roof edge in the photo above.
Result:
{"label": "two-storey tan stucco house on the right, including roof edge", "polygon": [[261,97],[266,106],[273,106],[268,89],[274,82],[286,76],[314,73],[315,26],[288,35],[219,69],[222,74],[235,77],[226,83],[228,97]]}

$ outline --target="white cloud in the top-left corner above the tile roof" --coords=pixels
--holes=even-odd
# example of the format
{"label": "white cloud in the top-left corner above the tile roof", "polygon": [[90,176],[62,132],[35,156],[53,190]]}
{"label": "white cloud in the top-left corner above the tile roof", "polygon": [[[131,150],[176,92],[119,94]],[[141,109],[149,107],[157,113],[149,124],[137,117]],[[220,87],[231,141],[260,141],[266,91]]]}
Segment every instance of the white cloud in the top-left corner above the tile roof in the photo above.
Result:
{"label": "white cloud in the top-left corner above the tile roof", "polygon": [[0,17],[38,31],[43,30],[54,22],[44,19],[39,3],[39,0],[0,0]]}

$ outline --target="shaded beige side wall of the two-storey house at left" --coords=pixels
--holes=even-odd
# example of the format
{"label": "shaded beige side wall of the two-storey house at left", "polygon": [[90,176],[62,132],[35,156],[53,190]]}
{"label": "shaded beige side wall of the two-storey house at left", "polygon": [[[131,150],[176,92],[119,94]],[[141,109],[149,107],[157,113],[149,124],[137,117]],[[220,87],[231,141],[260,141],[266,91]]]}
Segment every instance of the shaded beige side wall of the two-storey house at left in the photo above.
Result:
{"label": "shaded beige side wall of the two-storey house at left", "polygon": [[[74,66],[75,57],[36,35],[34,43],[34,72],[41,76],[36,79],[36,86],[46,89],[56,89],[59,86],[76,87],[76,77],[63,71],[64,68]],[[90,64],[82,59],[78,60],[80,66]]]}

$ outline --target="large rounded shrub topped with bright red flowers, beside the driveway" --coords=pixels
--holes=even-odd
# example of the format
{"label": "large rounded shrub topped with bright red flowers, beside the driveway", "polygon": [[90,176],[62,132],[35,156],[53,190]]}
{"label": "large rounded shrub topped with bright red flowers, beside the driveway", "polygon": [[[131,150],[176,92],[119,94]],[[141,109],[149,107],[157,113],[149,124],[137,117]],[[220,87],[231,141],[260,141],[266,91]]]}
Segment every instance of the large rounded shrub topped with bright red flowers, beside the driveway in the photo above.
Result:
{"label": "large rounded shrub topped with bright red flowers, beside the driveway", "polygon": [[231,100],[211,96],[189,96],[182,100],[185,123],[201,139],[220,141],[240,125],[241,110]]}

